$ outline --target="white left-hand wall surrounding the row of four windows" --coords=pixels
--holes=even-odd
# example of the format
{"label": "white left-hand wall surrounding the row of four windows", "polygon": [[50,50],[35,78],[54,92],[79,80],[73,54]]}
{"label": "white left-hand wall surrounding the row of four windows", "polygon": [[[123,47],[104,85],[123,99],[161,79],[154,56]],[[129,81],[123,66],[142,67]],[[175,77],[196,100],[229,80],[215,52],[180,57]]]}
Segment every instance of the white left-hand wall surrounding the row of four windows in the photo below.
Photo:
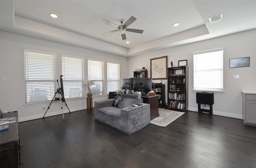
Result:
{"label": "white left-hand wall surrounding the row of four windows", "polygon": [[[94,59],[120,63],[120,79],[128,78],[128,58],[106,54],[103,52],[96,52],[84,48],[68,46],[37,38],[30,38],[8,32],[0,32],[1,51],[0,51],[0,108],[2,110],[18,110],[19,121],[32,120],[42,118],[46,112],[49,103],[24,105],[25,91],[24,91],[24,53],[23,49],[56,53],[57,57],[57,78],[61,74],[61,54],[68,56],[77,56],[85,60],[85,81],[87,81],[87,59]],[[106,70],[106,68],[105,68]],[[106,74],[106,73],[105,73]],[[3,82],[2,77],[7,77],[7,81]],[[106,75],[105,75],[106,77]],[[122,81],[121,81],[122,84]],[[120,86],[121,86],[120,84]],[[93,102],[97,100],[107,99],[107,86],[105,83],[105,95],[93,97]],[[66,100],[66,103],[71,112],[76,110],[86,109],[86,98]],[[94,103],[93,103],[94,104]],[[42,106],[45,105],[45,109]],[[62,104],[64,113],[68,112],[65,104]],[[48,110],[46,116],[61,114],[59,102],[53,102]],[[60,119],[62,117],[60,116]]]}

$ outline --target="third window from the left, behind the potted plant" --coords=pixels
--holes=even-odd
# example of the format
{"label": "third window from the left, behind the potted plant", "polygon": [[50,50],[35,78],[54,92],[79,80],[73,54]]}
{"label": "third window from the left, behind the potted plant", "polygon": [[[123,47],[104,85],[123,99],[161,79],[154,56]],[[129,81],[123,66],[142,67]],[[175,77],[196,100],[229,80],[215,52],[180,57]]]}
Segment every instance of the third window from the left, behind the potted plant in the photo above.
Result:
{"label": "third window from the left, behind the potted plant", "polygon": [[88,80],[95,80],[90,87],[93,96],[104,94],[104,62],[88,60]]}

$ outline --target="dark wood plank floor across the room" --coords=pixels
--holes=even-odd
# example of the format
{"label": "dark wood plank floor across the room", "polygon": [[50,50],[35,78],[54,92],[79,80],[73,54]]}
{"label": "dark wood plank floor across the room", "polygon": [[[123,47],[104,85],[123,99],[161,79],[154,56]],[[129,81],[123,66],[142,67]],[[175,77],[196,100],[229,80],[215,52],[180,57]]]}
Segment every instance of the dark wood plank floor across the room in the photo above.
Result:
{"label": "dark wood plank floor across the room", "polygon": [[256,168],[256,127],[186,112],[124,134],[82,110],[19,123],[21,168]]}

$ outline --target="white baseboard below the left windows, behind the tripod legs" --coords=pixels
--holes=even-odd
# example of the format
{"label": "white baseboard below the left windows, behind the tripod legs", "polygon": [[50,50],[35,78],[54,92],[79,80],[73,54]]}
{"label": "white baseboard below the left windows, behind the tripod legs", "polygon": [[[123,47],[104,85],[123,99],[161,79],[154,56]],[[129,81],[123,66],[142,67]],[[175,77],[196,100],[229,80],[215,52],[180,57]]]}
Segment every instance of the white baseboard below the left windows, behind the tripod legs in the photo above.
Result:
{"label": "white baseboard below the left windows, behind the tripod legs", "polygon": [[[72,109],[69,109],[70,112],[75,112],[75,111],[79,111],[79,110],[85,110],[86,107],[79,107],[79,108],[72,108]],[[45,113],[45,112],[44,112]],[[66,110],[63,110],[63,113],[69,113],[68,109]],[[34,115],[34,116],[29,116],[29,117],[22,117],[22,118],[19,118],[19,122],[24,122],[24,121],[28,121],[28,120],[35,120],[35,119],[38,119],[38,118],[43,118],[44,117],[49,117],[49,116],[56,116],[56,115],[59,115],[59,114],[62,114],[62,111],[58,111],[58,112],[47,112],[46,115],[44,116],[44,114],[39,114],[39,115]]]}

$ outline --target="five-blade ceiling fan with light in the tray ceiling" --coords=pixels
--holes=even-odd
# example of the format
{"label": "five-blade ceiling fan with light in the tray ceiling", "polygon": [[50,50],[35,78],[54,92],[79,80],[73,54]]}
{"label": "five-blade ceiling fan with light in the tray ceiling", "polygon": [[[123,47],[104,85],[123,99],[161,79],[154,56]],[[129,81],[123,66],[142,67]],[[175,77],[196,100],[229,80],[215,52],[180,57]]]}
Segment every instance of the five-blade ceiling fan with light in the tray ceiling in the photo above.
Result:
{"label": "five-blade ceiling fan with light in the tray ceiling", "polygon": [[[120,23],[121,25],[117,26],[116,24],[104,19],[102,20],[103,22],[106,22],[107,24],[110,24],[111,26],[114,26],[116,27],[117,29],[116,30],[112,30],[110,32],[106,32],[106,33],[103,33],[103,34],[110,34],[110,33],[113,33],[113,32],[118,32],[119,34],[121,34],[122,36],[122,40],[126,40],[126,31],[127,32],[134,32],[134,33],[140,33],[142,34],[144,30],[139,30],[139,29],[133,29],[133,28],[127,28],[130,24],[132,24],[134,21],[136,20],[135,17],[131,16],[125,23],[124,23],[124,20],[120,20]],[[124,23],[124,24],[123,24]]]}

